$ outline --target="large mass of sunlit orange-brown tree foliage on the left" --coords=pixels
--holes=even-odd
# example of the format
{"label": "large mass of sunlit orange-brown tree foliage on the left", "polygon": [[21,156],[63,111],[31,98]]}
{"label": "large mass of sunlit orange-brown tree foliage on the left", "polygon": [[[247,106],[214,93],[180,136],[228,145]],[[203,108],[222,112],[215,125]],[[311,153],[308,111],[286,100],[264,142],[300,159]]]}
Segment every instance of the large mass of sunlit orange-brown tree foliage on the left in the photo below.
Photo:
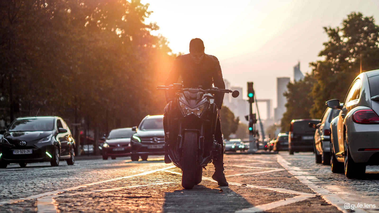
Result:
{"label": "large mass of sunlit orange-brown tree foliage on the left", "polygon": [[0,119],[9,123],[39,110],[105,132],[162,114],[164,96],[155,88],[175,55],[166,38],[150,34],[158,26],[145,23],[148,6],[140,0],[2,0]]}

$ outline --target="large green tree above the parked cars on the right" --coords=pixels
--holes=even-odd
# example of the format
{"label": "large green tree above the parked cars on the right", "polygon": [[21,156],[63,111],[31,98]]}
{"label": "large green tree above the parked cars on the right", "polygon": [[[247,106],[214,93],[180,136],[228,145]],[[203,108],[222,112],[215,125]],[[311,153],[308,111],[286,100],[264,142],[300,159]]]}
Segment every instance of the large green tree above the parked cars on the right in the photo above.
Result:
{"label": "large green tree above the parked cars on the right", "polygon": [[319,53],[323,60],[310,63],[312,73],[308,78],[288,85],[282,131],[288,129],[292,119],[321,118],[325,102],[330,99],[343,102],[352,80],[361,70],[379,69],[379,27],[372,16],[352,12],[341,27],[324,27],[324,30],[329,41],[324,42],[324,49]]}

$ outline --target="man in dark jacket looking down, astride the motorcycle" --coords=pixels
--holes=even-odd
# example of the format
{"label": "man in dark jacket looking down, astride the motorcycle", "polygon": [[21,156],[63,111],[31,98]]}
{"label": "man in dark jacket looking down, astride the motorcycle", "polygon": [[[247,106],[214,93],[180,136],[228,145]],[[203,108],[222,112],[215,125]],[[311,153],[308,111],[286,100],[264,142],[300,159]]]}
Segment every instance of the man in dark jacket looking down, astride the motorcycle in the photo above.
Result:
{"label": "man in dark jacket looking down, astride the motorcycle", "polygon": [[[225,83],[222,79],[221,67],[216,56],[204,53],[204,43],[199,38],[191,39],[189,42],[189,54],[179,55],[172,64],[171,71],[168,75],[165,85],[177,83],[179,76],[182,77],[184,88],[198,88],[200,85],[203,89],[210,89],[212,84],[219,88],[225,89]],[[167,103],[172,101],[174,93],[166,92]],[[224,93],[215,94],[215,104],[221,109]],[[166,132],[166,130],[165,130]],[[222,143],[222,133],[220,118],[217,119],[215,140],[221,144],[222,152],[213,159],[215,173],[212,175],[213,180],[218,182],[219,186],[227,186],[228,182],[224,175],[224,144]],[[164,161],[171,163],[168,154],[164,155]]]}

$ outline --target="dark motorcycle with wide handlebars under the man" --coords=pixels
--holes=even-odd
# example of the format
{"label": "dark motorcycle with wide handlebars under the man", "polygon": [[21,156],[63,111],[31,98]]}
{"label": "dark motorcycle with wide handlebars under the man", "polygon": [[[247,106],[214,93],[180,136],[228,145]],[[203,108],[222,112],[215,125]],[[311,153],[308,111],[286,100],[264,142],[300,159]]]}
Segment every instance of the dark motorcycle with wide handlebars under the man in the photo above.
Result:
{"label": "dark motorcycle with wide handlebars under the man", "polygon": [[214,134],[219,117],[214,95],[238,91],[229,89],[183,88],[182,84],[158,86],[157,90],[174,91],[175,99],[164,108],[164,149],[172,163],[182,169],[182,186],[192,189],[202,181],[202,169],[222,153]]}

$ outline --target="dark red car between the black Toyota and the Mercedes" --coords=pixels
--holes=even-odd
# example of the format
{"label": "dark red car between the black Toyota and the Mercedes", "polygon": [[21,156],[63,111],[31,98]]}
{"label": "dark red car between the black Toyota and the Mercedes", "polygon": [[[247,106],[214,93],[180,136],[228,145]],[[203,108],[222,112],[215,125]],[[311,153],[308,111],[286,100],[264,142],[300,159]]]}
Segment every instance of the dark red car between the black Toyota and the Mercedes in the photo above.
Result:
{"label": "dark red car between the black Toyota and the Mercedes", "polygon": [[111,130],[103,143],[103,160],[107,160],[108,157],[116,159],[116,157],[129,156],[130,138],[134,133],[135,131],[133,131],[132,128],[119,128]]}

